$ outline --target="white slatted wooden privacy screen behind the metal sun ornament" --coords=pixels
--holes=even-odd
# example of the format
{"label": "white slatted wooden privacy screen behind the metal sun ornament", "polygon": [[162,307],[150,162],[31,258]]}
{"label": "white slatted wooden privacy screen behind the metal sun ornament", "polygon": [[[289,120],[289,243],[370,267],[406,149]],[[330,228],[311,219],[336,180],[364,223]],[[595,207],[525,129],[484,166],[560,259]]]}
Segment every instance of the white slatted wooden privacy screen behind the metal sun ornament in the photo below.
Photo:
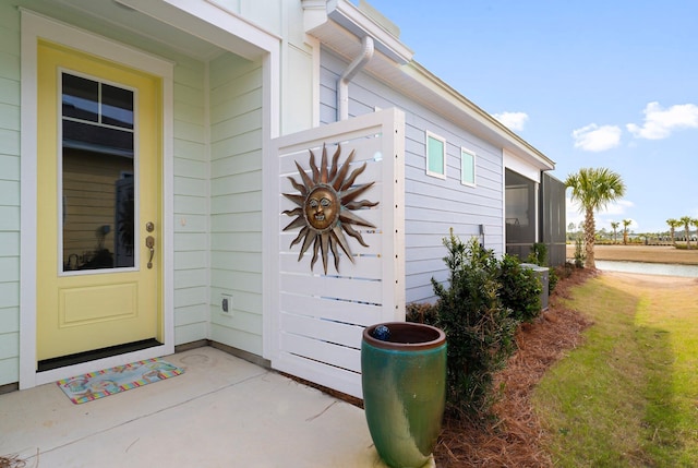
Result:
{"label": "white slatted wooden privacy screen behind the metal sun ornament", "polygon": [[[376,226],[352,225],[368,248],[347,236],[353,263],[341,252],[339,272],[332,253],[327,274],[322,255],[311,271],[313,248],[298,261],[301,244],[289,248],[300,228],[282,229],[296,205],[282,193],[299,193],[296,161],[309,173],[310,149],[321,166],[323,144],[332,164],[351,151],[349,173],[366,163],[354,184],[375,181],[358,200],[380,202],[353,213]],[[361,334],[368,325],[405,320],[405,116],[395,109],[357,117],[272,141],[265,166],[265,356],[272,367],[349,395],[361,397]],[[276,248],[276,249],[275,249]]]}

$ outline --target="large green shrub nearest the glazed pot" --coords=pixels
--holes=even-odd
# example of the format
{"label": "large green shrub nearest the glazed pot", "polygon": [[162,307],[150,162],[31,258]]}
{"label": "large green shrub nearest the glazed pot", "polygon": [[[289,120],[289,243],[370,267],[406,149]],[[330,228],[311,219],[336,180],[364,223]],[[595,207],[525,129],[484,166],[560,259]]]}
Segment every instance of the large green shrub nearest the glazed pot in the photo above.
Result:
{"label": "large green shrub nearest the glazed pot", "polygon": [[448,364],[446,403],[454,416],[482,415],[494,401],[493,373],[515,349],[518,322],[500,295],[501,266],[473,239],[462,243],[453,231],[444,239],[449,287],[432,278],[438,296],[433,325],[446,333]]}

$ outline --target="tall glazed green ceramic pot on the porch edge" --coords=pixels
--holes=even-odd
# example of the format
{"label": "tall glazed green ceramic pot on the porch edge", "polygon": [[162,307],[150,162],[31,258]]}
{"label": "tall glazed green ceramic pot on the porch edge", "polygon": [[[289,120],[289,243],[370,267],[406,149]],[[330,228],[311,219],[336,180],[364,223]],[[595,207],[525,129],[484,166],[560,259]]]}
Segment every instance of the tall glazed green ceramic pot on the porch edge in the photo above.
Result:
{"label": "tall glazed green ceramic pot on the porch edge", "polygon": [[[389,337],[374,336],[385,325]],[[418,323],[369,326],[361,343],[361,384],[375,448],[394,468],[422,467],[436,445],[446,403],[446,335]]]}

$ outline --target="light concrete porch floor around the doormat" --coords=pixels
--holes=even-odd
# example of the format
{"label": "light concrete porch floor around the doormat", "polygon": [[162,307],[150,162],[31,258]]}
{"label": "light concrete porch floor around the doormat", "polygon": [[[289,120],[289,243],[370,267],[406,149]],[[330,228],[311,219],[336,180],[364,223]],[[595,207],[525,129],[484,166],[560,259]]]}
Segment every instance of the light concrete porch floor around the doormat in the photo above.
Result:
{"label": "light concrete porch floor around the doormat", "polygon": [[73,405],[56,384],[0,395],[0,455],[26,467],[384,467],[363,410],[210,347],[184,374]]}

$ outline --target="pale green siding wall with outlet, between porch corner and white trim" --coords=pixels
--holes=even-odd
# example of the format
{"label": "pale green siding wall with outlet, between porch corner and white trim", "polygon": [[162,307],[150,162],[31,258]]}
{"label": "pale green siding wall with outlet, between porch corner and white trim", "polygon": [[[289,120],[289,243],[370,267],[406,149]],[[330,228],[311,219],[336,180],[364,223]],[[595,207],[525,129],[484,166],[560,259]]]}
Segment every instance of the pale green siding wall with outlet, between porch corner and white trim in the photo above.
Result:
{"label": "pale green siding wall with outlet, between porch corner and white trim", "polygon": [[226,53],[209,87],[209,337],[262,356],[262,64]]}

